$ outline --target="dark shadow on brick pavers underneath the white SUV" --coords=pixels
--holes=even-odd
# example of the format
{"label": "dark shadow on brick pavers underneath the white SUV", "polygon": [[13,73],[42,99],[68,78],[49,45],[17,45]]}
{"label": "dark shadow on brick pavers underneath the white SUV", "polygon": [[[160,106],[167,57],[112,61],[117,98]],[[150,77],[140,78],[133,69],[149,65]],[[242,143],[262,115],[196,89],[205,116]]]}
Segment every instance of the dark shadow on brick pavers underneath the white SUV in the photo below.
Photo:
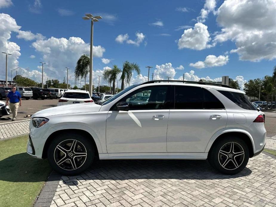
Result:
{"label": "dark shadow on brick pavers underneath the white SUV", "polygon": [[86,180],[178,179],[213,180],[248,176],[249,168],[235,175],[224,175],[207,160],[97,160],[85,171]]}

